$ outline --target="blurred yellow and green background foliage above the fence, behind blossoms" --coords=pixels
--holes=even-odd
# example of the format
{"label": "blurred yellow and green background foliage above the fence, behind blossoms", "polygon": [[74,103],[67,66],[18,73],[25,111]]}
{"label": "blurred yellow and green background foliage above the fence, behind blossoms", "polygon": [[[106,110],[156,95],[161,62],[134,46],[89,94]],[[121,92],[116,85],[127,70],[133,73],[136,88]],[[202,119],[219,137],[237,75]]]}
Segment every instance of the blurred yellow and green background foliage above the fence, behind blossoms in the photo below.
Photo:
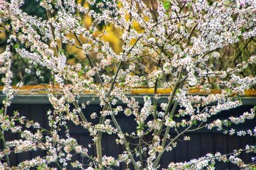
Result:
{"label": "blurred yellow and green background foliage above the fence, behind blossoms", "polygon": [[[101,0],[97,0],[101,1]],[[168,1],[164,1],[164,8],[166,11],[170,11],[170,3]],[[157,19],[157,4],[154,0],[144,0],[144,2],[147,4],[147,6],[150,6],[150,10],[152,12],[153,18]],[[82,4],[85,7],[89,7],[95,11],[98,9],[95,6],[90,6],[85,0],[77,0],[77,3]],[[211,3],[211,1],[209,1]],[[29,15],[41,17],[44,20],[47,19],[46,11],[44,8],[40,6],[40,1],[36,0],[25,0],[24,5],[22,6],[22,10],[28,13]],[[100,12],[100,11],[99,11]],[[81,14],[79,14],[81,15]],[[129,16],[127,16],[129,17]],[[84,27],[90,27],[92,25],[93,18],[89,17],[88,15],[81,15],[82,23],[84,24]],[[144,18],[147,20],[147,18]],[[137,32],[143,32],[144,29],[138,24],[138,22],[133,22],[132,27]],[[8,31],[4,29],[4,27],[0,27],[0,53],[4,51],[4,48],[6,46],[6,38],[8,37]],[[122,36],[122,30],[115,28],[113,25],[100,25],[99,29],[94,33],[94,36],[99,36],[103,31],[108,32],[107,35],[104,35],[101,37],[104,41],[108,41],[111,45],[111,48],[113,48],[114,52],[120,53],[122,52],[122,45],[124,45],[124,42],[122,39],[120,39],[120,36]],[[74,38],[74,34],[67,34],[68,38]],[[79,37],[82,42],[85,42],[86,39],[83,37]],[[134,39],[134,42],[136,39]],[[134,43],[134,42],[131,42]],[[77,42],[76,42],[77,43]],[[77,43],[78,45],[78,43]],[[211,64],[214,65],[216,70],[223,70],[227,69],[228,67],[235,67],[237,63],[246,61],[250,56],[256,55],[256,39],[241,39],[239,43],[226,46],[223,49],[218,50],[220,52],[220,58],[210,60]],[[14,50],[13,50],[14,51]],[[82,50],[79,48],[76,48],[76,46],[73,45],[64,45],[63,46],[63,52],[67,56],[67,63],[70,65],[74,65],[77,62],[81,63],[83,66],[88,64],[87,60],[84,60],[84,55],[82,53]],[[93,60],[97,61],[97,53],[92,52],[90,53]],[[151,59],[153,57],[143,57],[138,60],[136,63],[136,72],[134,74],[139,75],[145,75],[151,73],[152,70],[156,69],[157,67],[157,61],[154,59]],[[26,75],[25,69],[29,67],[29,62],[22,59],[19,55],[15,54],[13,55],[13,63],[12,63],[12,71],[14,74],[13,78],[13,85],[18,83],[20,80],[24,82],[24,85],[34,85],[34,84],[40,84],[40,83],[50,83],[51,82],[51,73],[50,71],[42,66],[35,66],[31,67],[31,73],[29,75]],[[108,71],[109,73],[113,73],[115,70],[115,67],[108,67],[105,71]],[[44,78],[40,78],[36,76],[36,71],[40,71],[42,76]],[[248,69],[244,70],[240,73],[241,76],[256,76],[256,69],[255,66],[249,66]],[[168,76],[165,77],[164,81],[168,81]],[[214,82],[214,78],[209,79],[210,82]],[[3,85],[2,83],[0,85]]]}

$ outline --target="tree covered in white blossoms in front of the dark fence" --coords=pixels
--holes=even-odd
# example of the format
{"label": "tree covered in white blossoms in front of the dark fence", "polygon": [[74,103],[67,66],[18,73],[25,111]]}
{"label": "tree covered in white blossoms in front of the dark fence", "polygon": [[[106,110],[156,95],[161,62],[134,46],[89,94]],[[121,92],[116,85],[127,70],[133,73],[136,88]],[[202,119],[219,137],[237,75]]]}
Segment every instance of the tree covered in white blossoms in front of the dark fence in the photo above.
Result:
{"label": "tree covered in white blossoms in front of the dark fence", "polygon": [[[22,0],[0,1],[1,27],[8,32],[8,45],[0,54],[1,81],[6,95],[0,114],[4,143],[4,150],[0,152],[4,160],[0,163],[1,169],[10,168],[10,152],[31,150],[45,150],[47,155],[20,162],[12,168],[47,169],[52,163],[59,169],[65,169],[68,164],[83,168],[83,162],[70,162],[72,153],[76,153],[90,160],[88,169],[111,169],[121,162],[134,169],[158,169],[164,152],[172,152],[179,140],[190,139],[184,136],[186,132],[207,128],[227,135],[255,136],[256,127],[248,131],[225,130],[229,125],[255,119],[255,108],[239,117],[215,118],[211,122],[209,118],[241,106],[244,90],[256,85],[255,75],[248,69],[255,67],[256,55],[237,59],[256,34],[256,1],[88,0],[87,3],[88,6],[83,6],[74,0],[42,0],[40,8],[45,9],[47,18],[40,18],[22,11]],[[85,15],[92,18],[90,26],[85,27],[81,22]],[[134,24],[140,25],[140,29]],[[115,52],[102,39],[108,35],[104,29],[107,25],[122,31],[119,37],[122,52]],[[67,45],[83,52],[80,63],[67,64]],[[227,49],[233,50],[227,54]],[[12,86],[13,55],[30,64],[24,76],[38,66],[51,71],[47,96],[54,109],[45,113],[50,129],[22,117],[19,112],[7,114],[13,96],[22,86],[22,80]],[[141,74],[138,69],[148,71]],[[40,69],[36,75],[44,78]],[[145,95],[141,107],[129,92],[143,85],[154,88],[154,96]],[[56,93],[56,87],[61,95]],[[158,104],[161,96],[157,90],[163,88],[172,91],[168,103]],[[191,95],[191,89],[200,89],[205,95]],[[220,93],[211,93],[212,89]],[[91,101],[78,103],[84,91],[99,98],[102,110],[90,115],[97,123],[86,118]],[[116,120],[120,113],[134,117],[136,131],[123,131]],[[87,148],[70,137],[67,121],[90,132],[97,149],[96,157],[88,155]],[[29,127],[35,131],[29,131]],[[67,127],[65,136],[60,136],[58,131],[63,127]],[[171,129],[177,132],[172,138]],[[5,131],[19,133],[22,139],[6,141]],[[118,158],[102,155],[102,134],[115,134],[116,143],[124,145],[125,151]],[[147,135],[152,136],[152,140],[145,146],[142,139]],[[132,150],[127,138],[139,139],[139,149]],[[252,164],[239,159],[242,152],[255,153],[255,146],[247,145],[226,155],[208,153],[188,162],[170,162],[169,168],[213,169],[212,164],[218,160],[250,169]]]}

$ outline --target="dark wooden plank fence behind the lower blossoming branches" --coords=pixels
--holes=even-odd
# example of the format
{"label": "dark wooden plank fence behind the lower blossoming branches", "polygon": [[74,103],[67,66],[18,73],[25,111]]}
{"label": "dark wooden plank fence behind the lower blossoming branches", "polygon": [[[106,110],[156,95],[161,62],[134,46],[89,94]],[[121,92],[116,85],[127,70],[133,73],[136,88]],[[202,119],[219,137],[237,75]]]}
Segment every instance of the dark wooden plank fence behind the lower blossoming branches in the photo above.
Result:
{"label": "dark wooden plank fence behind the lower blossoming branches", "polygon": [[[3,97],[3,96],[2,96]],[[35,99],[33,98],[35,97]],[[42,97],[42,96],[41,96]],[[140,97],[138,97],[140,99]],[[81,99],[82,101],[86,101],[87,98]],[[140,99],[141,100],[141,99]],[[1,101],[1,96],[0,96]],[[256,99],[244,99],[244,105],[236,108],[236,110],[230,110],[230,111],[223,111],[218,115],[218,118],[227,118],[230,115],[239,115],[243,113],[244,111],[250,110],[253,105],[255,104]],[[28,119],[35,120],[36,122],[39,122],[40,125],[44,128],[48,128],[48,120],[46,112],[51,109],[51,105],[47,101],[46,97],[40,98],[40,96],[18,96],[13,101],[12,106],[8,108],[8,114],[12,114],[13,111],[19,110],[20,115],[25,116]],[[90,107],[86,108],[86,117],[87,115],[90,115],[90,113],[95,111],[100,111],[101,108],[97,105],[97,101]],[[89,117],[88,117],[89,118]],[[131,132],[136,129],[134,120],[132,117],[124,117],[124,115],[120,114],[117,115],[116,119],[120,123],[122,129],[124,132]],[[256,125],[256,121],[250,120],[247,121],[246,124],[243,125],[237,125],[236,129],[253,129]],[[85,131],[82,127],[76,126],[74,124],[68,124],[70,127],[70,134],[73,138],[76,138],[78,143],[80,145],[85,146],[88,148],[88,145],[92,143],[92,138],[88,135],[88,132]],[[61,134],[65,136],[65,134]],[[174,136],[174,132],[170,132],[171,136]],[[215,152],[221,152],[221,153],[230,153],[234,149],[238,148],[244,148],[247,144],[249,145],[255,145],[256,140],[255,137],[250,136],[228,136],[221,134],[217,131],[209,131],[207,129],[202,129],[200,131],[191,132],[187,134],[190,136],[190,141],[182,141],[179,142],[177,147],[172,151],[168,153],[164,153],[163,158],[161,159],[161,167],[166,168],[168,166],[168,163],[170,161],[174,162],[183,162],[188,161],[191,159],[196,159],[198,157],[204,156],[206,153],[215,153]],[[12,140],[19,138],[19,135],[12,134],[12,132],[5,132],[6,140]],[[102,152],[105,155],[111,155],[113,157],[118,157],[118,154],[124,150],[124,146],[116,145],[115,143],[116,135],[107,135],[103,134],[102,137]],[[145,138],[145,140],[150,140],[150,136]],[[136,143],[138,141],[134,141],[133,139],[129,139],[129,143]],[[132,146],[132,145],[131,145]],[[2,148],[2,146],[1,146]],[[96,155],[95,146],[92,145],[91,148],[88,148],[89,154]],[[28,152],[28,153],[18,153],[14,154],[12,153],[10,155],[10,162],[12,166],[16,166],[19,164],[19,162],[22,162],[23,160],[28,160],[33,157],[36,157],[38,155],[45,155],[44,151],[37,151],[37,152]],[[252,153],[242,153],[241,158],[246,163],[252,162],[251,157],[253,157]],[[84,159],[83,157],[79,157],[76,155],[74,159],[83,160],[84,164],[88,164],[88,161]],[[115,169],[125,169],[125,164],[120,164],[120,167]],[[130,167],[132,169],[132,167]],[[72,169],[71,167],[68,167],[68,169]],[[234,166],[233,164],[224,164],[218,162],[216,164],[216,169],[238,169],[237,166]]]}

